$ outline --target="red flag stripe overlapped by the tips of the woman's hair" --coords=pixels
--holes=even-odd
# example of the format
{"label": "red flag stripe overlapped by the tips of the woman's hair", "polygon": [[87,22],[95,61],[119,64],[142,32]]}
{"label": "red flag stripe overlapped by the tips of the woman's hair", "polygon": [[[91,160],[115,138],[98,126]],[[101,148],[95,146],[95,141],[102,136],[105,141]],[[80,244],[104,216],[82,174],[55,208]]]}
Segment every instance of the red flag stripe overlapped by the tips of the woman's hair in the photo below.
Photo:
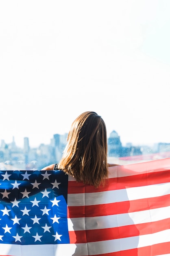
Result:
{"label": "red flag stripe overlapped by the tips of the woman's hair", "polygon": [[94,193],[167,182],[170,182],[170,171],[161,172],[161,175],[160,172],[155,172],[143,173],[127,177],[110,178],[106,180],[105,186],[100,186],[97,189],[94,188],[94,186],[84,185],[83,182],[70,181],[68,182],[68,194]]}

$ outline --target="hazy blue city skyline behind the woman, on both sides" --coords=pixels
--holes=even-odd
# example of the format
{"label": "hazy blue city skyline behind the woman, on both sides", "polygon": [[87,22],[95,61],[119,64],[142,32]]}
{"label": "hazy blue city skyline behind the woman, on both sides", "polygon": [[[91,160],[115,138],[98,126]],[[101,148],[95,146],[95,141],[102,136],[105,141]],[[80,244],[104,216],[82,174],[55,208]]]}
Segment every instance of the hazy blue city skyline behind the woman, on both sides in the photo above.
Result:
{"label": "hazy blue city skyline behind the woman, on both sides", "polygon": [[[29,146],[29,138],[24,138],[24,148],[2,139],[0,144],[0,170],[41,170],[45,166],[59,162],[66,145],[68,134],[54,134],[50,144],[40,144],[37,148]],[[129,164],[170,157],[170,143],[157,143],[153,146],[122,146],[120,136],[113,130],[108,138],[108,162]]]}

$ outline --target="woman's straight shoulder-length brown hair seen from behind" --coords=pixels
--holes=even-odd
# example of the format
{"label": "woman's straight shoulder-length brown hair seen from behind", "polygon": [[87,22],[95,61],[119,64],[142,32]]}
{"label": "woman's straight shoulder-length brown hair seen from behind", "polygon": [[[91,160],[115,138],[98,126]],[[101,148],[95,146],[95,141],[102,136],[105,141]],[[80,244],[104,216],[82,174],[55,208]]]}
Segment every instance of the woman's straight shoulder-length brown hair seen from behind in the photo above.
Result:
{"label": "woman's straight shoulder-length brown hair seen from behind", "polygon": [[58,168],[95,187],[107,178],[107,132],[96,112],[84,112],[74,120]]}

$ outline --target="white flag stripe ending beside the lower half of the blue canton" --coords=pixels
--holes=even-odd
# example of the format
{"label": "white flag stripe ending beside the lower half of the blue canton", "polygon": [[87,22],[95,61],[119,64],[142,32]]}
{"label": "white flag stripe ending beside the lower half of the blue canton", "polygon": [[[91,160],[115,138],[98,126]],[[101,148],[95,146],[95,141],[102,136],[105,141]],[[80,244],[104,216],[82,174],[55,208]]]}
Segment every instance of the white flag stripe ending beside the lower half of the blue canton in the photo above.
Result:
{"label": "white flag stripe ending beside the lower half of the blue canton", "polygon": [[108,216],[68,218],[68,230],[90,230],[123,227],[170,218],[170,206]]}

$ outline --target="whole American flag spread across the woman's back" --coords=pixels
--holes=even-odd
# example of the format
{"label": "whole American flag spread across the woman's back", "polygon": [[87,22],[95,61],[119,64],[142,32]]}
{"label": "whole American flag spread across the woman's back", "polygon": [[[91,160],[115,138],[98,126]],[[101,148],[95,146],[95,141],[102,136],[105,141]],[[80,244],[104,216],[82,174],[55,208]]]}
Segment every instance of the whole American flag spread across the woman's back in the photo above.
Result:
{"label": "whole American flag spread across the woman's back", "polygon": [[0,171],[0,255],[170,255],[170,158],[109,167],[98,189],[62,171]]}

